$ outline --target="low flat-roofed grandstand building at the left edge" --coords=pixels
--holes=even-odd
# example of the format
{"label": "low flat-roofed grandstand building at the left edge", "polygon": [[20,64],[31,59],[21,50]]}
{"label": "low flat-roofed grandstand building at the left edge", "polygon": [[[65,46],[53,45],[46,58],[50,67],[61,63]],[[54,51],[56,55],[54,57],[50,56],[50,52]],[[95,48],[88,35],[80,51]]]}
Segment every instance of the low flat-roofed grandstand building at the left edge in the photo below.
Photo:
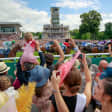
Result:
{"label": "low flat-roofed grandstand building at the left edge", "polygon": [[21,37],[21,24],[17,22],[0,22],[0,40],[17,40]]}

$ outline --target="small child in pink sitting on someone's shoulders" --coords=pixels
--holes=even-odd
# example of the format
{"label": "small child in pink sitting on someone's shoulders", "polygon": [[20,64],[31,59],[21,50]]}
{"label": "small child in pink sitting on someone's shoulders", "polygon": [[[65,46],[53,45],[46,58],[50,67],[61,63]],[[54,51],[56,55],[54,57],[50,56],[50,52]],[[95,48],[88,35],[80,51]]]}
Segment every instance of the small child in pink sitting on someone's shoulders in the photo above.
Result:
{"label": "small child in pink sitting on someone's shoulders", "polygon": [[23,55],[21,57],[21,61],[20,61],[22,70],[24,69],[24,67],[23,67],[24,62],[31,62],[34,64],[39,64],[36,57],[34,56],[35,48],[37,49],[37,51],[39,48],[38,42],[33,40],[33,35],[29,32],[24,35],[24,39],[25,39],[24,53],[23,53]]}

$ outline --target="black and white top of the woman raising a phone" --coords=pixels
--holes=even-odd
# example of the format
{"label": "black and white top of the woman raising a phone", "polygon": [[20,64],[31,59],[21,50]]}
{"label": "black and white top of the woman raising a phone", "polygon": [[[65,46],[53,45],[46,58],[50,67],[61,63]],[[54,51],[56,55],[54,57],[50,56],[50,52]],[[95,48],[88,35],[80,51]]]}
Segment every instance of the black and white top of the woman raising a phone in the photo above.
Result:
{"label": "black and white top of the woman raising a phone", "polygon": [[[84,94],[77,94],[75,96],[62,96],[70,112],[85,112],[86,96]],[[58,112],[55,97],[50,98],[54,106],[55,112]]]}

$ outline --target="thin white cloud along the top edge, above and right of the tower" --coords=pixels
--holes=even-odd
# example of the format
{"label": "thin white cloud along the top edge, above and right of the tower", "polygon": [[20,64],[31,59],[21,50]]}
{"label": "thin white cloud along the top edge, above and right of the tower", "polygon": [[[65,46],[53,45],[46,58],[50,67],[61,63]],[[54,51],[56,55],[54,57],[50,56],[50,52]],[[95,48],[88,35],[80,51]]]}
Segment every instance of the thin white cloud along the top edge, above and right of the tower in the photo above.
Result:
{"label": "thin white cloud along the top edge, above and right of the tower", "polygon": [[56,3],[52,5],[70,9],[100,8],[99,0],[58,0]]}

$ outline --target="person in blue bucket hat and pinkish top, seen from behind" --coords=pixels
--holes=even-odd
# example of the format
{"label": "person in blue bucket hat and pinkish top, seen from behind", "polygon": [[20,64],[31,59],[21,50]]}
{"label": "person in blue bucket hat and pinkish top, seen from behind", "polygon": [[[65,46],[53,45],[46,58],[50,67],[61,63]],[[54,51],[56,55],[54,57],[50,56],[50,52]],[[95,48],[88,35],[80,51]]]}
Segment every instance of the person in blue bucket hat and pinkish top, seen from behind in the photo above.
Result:
{"label": "person in blue bucket hat and pinkish top, seen from behind", "polygon": [[[49,81],[50,71],[47,68],[36,65],[30,71],[29,81],[36,82],[35,95],[33,97],[33,107],[31,112],[50,112],[52,86]],[[35,105],[35,106],[34,106]]]}

